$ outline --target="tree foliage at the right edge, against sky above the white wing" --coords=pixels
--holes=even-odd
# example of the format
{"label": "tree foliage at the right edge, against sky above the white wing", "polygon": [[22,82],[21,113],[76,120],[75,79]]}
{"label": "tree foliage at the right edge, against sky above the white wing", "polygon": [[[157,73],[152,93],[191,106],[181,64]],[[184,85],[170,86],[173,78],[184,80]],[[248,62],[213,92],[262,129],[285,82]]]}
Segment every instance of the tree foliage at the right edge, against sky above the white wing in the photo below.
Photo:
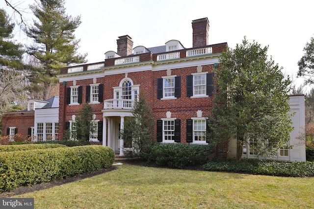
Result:
{"label": "tree foliage at the right edge, against sky above the white wing", "polygon": [[298,62],[298,76],[306,79],[305,84],[314,84],[314,37],[311,38],[310,43],[306,43],[303,51],[305,53]]}

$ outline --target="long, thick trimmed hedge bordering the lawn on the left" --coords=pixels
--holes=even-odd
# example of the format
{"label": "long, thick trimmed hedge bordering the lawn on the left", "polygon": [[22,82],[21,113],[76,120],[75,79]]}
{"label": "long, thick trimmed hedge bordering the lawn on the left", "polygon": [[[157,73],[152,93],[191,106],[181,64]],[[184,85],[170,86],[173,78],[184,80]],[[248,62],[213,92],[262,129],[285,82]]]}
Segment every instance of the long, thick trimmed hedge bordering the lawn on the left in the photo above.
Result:
{"label": "long, thick trimmed hedge bordering the lawn on the left", "polygon": [[0,192],[106,169],[114,151],[90,145],[0,153]]}

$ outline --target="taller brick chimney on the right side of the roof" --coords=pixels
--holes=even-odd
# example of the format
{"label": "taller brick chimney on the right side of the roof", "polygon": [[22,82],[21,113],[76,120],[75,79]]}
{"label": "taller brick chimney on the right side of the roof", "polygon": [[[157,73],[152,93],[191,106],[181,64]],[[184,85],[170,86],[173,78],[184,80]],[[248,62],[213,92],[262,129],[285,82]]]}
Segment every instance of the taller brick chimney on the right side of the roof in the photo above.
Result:
{"label": "taller brick chimney on the right side of the roof", "polygon": [[193,28],[193,47],[207,46],[209,21],[208,18],[202,18],[192,21]]}

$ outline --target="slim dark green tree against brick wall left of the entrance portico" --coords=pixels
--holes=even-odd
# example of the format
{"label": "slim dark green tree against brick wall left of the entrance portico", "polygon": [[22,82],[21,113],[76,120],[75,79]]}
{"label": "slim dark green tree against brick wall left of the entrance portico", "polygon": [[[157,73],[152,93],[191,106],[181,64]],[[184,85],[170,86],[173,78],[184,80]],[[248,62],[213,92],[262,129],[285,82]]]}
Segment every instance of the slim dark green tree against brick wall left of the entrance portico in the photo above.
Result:
{"label": "slim dark green tree against brick wall left of the entrance portico", "polygon": [[75,117],[76,139],[82,144],[88,145],[90,136],[96,132],[97,126],[93,123],[93,108],[90,104],[84,103],[78,110]]}

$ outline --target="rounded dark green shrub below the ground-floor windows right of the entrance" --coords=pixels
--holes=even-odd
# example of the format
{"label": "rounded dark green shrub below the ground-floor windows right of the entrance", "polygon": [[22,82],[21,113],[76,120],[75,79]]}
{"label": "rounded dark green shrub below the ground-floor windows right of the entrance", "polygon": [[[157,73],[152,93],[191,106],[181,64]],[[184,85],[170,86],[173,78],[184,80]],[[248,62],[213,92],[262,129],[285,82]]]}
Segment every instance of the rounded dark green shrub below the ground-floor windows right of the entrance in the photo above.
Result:
{"label": "rounded dark green shrub below the ground-floor windows right of the entrance", "polygon": [[146,159],[158,165],[184,168],[195,164],[204,164],[213,152],[211,146],[183,143],[154,143]]}

